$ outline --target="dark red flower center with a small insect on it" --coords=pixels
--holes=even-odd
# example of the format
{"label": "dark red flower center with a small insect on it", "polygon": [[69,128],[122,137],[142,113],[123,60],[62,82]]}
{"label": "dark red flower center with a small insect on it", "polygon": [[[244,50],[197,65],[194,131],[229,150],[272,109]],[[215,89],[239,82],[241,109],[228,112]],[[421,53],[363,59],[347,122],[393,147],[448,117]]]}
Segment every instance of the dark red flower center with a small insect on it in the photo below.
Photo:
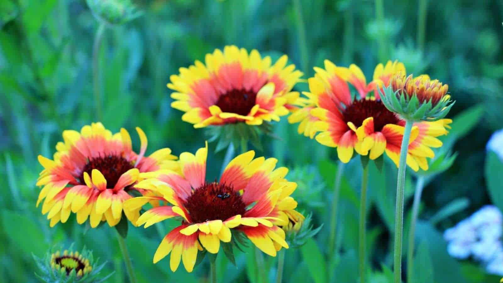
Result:
{"label": "dark red flower center with a small insect on it", "polygon": [[232,187],[217,182],[205,183],[194,190],[185,202],[193,223],[210,220],[225,221],[235,215],[243,215],[246,205]]}

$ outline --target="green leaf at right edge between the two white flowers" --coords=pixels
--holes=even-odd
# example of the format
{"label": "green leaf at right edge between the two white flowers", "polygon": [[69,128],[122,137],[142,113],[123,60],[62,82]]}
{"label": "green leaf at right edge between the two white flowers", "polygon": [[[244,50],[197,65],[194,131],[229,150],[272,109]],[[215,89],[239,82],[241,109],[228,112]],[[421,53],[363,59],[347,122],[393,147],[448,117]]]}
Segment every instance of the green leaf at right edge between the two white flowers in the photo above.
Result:
{"label": "green leaf at right edge between the two white flowers", "polygon": [[489,190],[492,203],[499,210],[503,211],[503,190],[501,190],[501,172],[503,172],[503,162],[493,151],[487,151],[485,157],[485,183]]}

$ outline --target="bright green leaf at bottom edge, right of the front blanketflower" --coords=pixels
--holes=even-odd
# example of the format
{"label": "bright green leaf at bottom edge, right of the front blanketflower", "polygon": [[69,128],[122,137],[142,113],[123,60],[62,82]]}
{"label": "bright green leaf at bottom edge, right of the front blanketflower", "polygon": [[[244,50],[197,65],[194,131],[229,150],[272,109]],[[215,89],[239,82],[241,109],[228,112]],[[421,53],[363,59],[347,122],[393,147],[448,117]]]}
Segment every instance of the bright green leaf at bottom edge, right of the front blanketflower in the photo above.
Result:
{"label": "bright green leaf at bottom edge, right of the front blanketflower", "polygon": [[314,281],[326,282],[326,263],[316,242],[313,239],[307,240],[306,244],[300,248],[300,252]]}

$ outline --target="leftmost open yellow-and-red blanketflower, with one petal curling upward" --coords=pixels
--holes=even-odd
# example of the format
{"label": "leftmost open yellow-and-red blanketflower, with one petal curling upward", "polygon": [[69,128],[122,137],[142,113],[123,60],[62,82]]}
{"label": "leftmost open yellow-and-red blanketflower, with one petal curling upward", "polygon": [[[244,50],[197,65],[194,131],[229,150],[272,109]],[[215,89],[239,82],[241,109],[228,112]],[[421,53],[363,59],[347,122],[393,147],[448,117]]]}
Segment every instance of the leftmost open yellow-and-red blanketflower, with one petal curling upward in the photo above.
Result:
{"label": "leftmost open yellow-and-red blanketflower, with one petal curling upward", "polygon": [[[80,132],[64,130],[54,160],[38,157],[45,169],[37,181],[37,186],[43,186],[37,206],[45,198],[42,214],[48,213],[51,227],[65,223],[71,212],[79,224],[89,218],[93,228],[105,220],[115,226],[121,220],[123,202],[131,198],[128,192],[147,193],[133,187],[143,172],[178,170],[177,157],[168,148],[144,156],[147,137],[140,128],[136,131],[141,140],[139,154],[133,151],[127,130],[112,134],[102,123],[92,123]],[[139,210],[128,211],[133,224],[138,217]]]}

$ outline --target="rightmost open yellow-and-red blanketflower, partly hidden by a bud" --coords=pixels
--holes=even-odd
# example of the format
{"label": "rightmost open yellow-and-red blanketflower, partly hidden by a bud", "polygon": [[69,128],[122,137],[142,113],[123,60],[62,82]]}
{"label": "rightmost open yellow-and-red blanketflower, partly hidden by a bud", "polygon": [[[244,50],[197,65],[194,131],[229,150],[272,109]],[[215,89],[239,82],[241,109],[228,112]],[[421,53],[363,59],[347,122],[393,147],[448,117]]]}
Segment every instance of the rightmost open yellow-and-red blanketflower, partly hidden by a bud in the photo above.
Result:
{"label": "rightmost open yellow-and-red blanketflower, partly hidden by a bud", "polygon": [[[307,116],[312,125],[310,135],[321,131],[316,140],[322,145],[336,147],[339,159],[344,163],[349,162],[355,151],[369,155],[372,160],[386,152],[398,165],[405,121],[389,111],[375,95],[377,88],[390,84],[391,72],[403,68],[403,64],[388,62],[386,66],[378,65],[374,73],[376,80],[367,85],[358,66],[339,67],[325,60],[325,69],[315,68],[315,77],[308,80],[310,92],[304,95],[312,104],[306,107],[316,105]],[[355,98],[352,98],[348,82],[359,94]],[[442,146],[436,137],[448,133],[446,127],[450,122],[450,119],[442,119],[414,123],[407,154],[408,166],[414,171],[420,167],[428,169],[426,158],[434,157],[431,148]]]}

